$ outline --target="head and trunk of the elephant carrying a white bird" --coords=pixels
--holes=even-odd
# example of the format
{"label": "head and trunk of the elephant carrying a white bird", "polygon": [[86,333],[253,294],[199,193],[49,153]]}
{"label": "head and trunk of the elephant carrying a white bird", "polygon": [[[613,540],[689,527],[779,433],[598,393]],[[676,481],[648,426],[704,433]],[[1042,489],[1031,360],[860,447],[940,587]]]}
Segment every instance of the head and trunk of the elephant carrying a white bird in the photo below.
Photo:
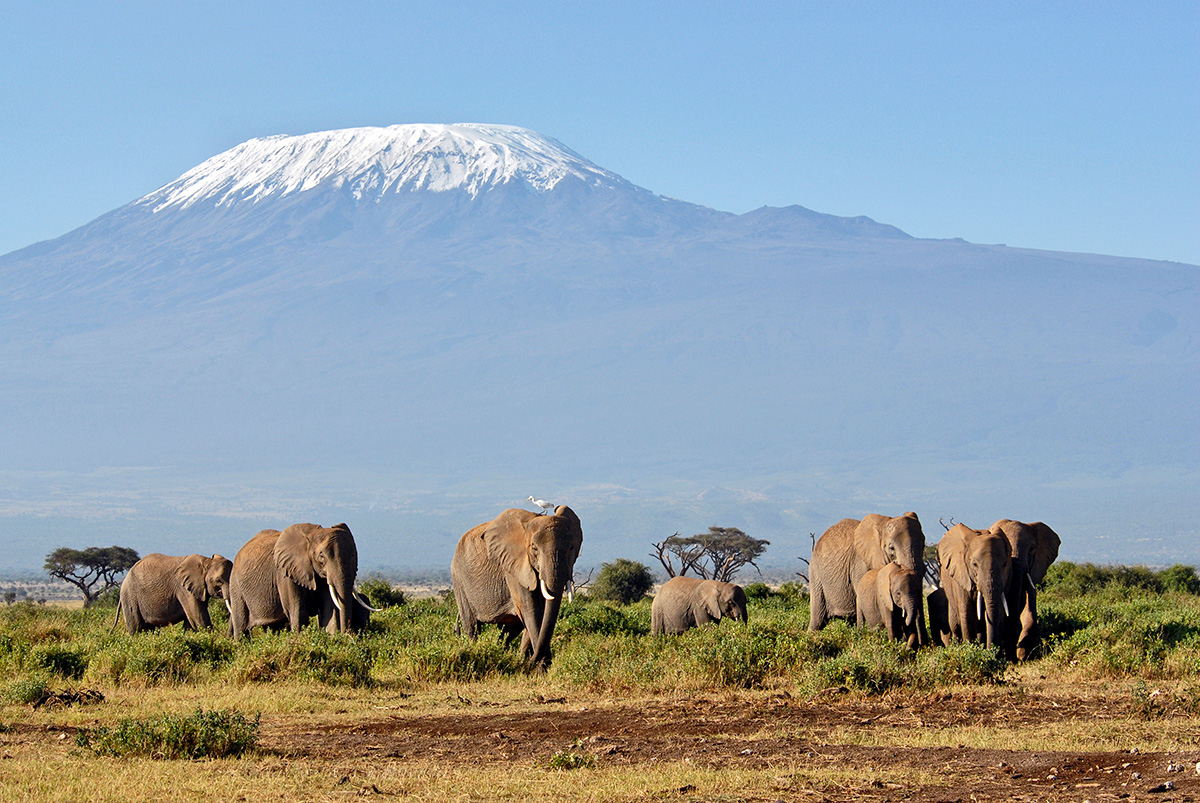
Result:
{"label": "head and trunk of the elephant carrying a white bird", "polygon": [[[500,568],[510,587],[516,583],[544,600],[539,631],[527,635],[535,664],[550,663],[550,639],[563,604],[563,594],[575,571],[575,561],[583,545],[583,527],[566,505],[558,505],[552,516],[529,510],[509,509],[484,531],[488,557]],[[512,589],[512,598],[523,594]],[[536,618],[536,616],[535,616]]]}

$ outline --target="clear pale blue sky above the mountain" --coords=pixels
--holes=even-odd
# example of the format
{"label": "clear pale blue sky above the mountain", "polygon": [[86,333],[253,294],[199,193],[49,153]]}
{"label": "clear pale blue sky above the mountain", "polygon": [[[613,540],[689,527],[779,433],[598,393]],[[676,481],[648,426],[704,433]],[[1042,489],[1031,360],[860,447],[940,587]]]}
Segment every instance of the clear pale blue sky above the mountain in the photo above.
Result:
{"label": "clear pale blue sky above the mountain", "polygon": [[0,253],[251,137],[397,122],[733,212],[1200,264],[1195,0],[0,0]]}

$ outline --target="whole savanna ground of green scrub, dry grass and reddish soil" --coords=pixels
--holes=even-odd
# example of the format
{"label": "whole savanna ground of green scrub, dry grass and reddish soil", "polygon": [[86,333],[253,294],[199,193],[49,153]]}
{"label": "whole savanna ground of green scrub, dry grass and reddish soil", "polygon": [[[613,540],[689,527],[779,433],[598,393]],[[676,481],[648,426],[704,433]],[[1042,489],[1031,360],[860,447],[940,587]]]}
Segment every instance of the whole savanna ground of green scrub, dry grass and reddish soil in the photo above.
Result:
{"label": "whole savanna ground of green scrub, dry grass and reddish soil", "polygon": [[[1178,573],[1174,575],[1181,577]],[[1200,799],[1200,580],[1055,564],[1042,654],[917,652],[792,583],[749,623],[650,636],[564,605],[548,671],[445,595],[234,642],[103,605],[0,609],[6,801]]]}

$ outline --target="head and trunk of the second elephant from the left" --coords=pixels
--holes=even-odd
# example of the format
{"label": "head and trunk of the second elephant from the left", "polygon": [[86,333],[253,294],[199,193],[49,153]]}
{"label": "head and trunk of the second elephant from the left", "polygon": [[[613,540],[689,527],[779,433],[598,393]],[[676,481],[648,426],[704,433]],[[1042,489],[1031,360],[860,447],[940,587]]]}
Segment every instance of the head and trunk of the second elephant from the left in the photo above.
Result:
{"label": "head and trunk of the second elephant from the left", "polygon": [[359,551],[346,525],[292,525],[275,543],[275,565],[288,580],[308,591],[320,583],[329,588],[337,609],[334,617],[338,633],[353,630],[350,606],[354,580],[359,573]]}

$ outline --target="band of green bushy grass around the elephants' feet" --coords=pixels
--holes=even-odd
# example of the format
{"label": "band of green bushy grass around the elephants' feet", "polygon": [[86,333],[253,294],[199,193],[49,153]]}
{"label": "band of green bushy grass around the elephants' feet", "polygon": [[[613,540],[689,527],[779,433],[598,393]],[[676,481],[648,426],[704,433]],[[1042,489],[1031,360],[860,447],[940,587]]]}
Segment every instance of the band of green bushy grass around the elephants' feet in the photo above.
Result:
{"label": "band of green bushy grass around the elephants' feet", "polygon": [[[1062,588],[1068,591],[1051,588],[1039,598],[1045,666],[1078,678],[1195,678],[1200,689],[1200,598],[1112,583],[1082,594]],[[112,609],[5,606],[0,702],[23,705],[64,687],[107,693],[294,681],[331,689],[418,688],[532,672],[497,628],[485,627],[476,642],[455,635],[454,604],[440,598],[377,612],[359,636],[310,627],[239,642],[226,635],[218,607],[218,624],[209,631],[176,625],[130,636],[112,627]],[[568,688],[649,694],[781,688],[811,695],[845,688],[871,695],[1002,683],[1012,671],[977,645],[912,652],[845,622],[809,633],[808,601],[796,593],[756,589],[748,624],[722,622],[680,636],[650,636],[649,618],[648,599],[564,605],[546,677]],[[1194,696],[1200,707],[1200,691]]]}

